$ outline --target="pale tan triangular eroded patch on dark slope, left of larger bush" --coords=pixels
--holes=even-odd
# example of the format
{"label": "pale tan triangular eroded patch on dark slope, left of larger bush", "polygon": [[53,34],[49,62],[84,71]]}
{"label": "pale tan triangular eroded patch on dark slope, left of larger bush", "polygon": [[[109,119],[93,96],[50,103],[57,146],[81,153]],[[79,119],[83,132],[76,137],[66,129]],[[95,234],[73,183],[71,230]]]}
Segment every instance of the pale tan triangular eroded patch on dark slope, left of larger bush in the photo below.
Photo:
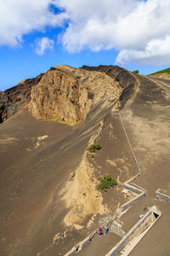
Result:
{"label": "pale tan triangular eroded patch on dark slope, left of larger bush", "polygon": [[90,214],[102,215],[108,212],[106,205],[102,204],[101,193],[95,188],[97,180],[93,173],[85,153],[74,180],[69,181],[62,191],[62,199],[65,200],[66,207],[70,208],[64,218],[66,226],[82,224],[84,218]]}

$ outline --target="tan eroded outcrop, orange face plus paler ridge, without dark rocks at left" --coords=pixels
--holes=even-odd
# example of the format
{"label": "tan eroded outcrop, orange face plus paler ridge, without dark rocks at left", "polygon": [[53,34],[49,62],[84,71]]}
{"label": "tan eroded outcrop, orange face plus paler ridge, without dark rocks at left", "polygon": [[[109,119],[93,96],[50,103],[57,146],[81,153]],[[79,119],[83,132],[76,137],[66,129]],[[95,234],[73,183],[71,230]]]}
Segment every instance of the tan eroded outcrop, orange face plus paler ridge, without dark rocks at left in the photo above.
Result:
{"label": "tan eroded outcrop, orange face plus paler ridge, without dark rocks at left", "polygon": [[133,75],[121,67],[59,65],[32,88],[28,110],[38,119],[85,120],[90,110],[97,113],[113,105],[122,107],[123,90],[129,87],[133,94],[135,83]]}

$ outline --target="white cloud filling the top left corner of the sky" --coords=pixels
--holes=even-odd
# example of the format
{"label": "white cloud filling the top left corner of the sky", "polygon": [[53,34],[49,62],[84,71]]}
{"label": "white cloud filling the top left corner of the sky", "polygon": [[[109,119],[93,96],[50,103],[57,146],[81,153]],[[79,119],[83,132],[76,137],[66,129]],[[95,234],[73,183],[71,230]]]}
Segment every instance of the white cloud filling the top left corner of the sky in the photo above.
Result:
{"label": "white cloud filling the top left corner of the sky", "polygon": [[62,26],[66,13],[55,15],[49,9],[54,0],[1,0],[0,45],[15,46],[22,36],[43,31],[46,26]]}

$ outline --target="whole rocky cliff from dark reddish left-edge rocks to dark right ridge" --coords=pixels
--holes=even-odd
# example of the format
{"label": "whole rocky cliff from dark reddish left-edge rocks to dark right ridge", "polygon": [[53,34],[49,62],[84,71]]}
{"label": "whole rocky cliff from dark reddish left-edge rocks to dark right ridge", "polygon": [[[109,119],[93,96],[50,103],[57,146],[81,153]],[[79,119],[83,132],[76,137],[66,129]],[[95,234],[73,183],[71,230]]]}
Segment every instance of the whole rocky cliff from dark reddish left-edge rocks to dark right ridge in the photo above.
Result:
{"label": "whole rocky cliff from dark reddish left-edge rocks to dark right ridge", "polygon": [[90,110],[123,108],[138,86],[133,73],[116,66],[81,68],[59,65],[1,93],[0,122],[20,108],[37,119],[76,123]]}

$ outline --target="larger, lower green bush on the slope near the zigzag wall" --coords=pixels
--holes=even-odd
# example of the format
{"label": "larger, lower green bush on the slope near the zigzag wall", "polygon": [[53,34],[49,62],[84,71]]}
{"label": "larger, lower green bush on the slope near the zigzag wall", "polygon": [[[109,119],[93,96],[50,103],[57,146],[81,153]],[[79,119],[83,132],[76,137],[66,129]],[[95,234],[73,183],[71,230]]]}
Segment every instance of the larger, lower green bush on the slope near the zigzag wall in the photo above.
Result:
{"label": "larger, lower green bush on the slope near the zigzag wall", "polygon": [[111,177],[110,174],[105,174],[103,177],[99,177],[100,183],[97,185],[98,190],[107,191],[107,189],[113,188],[117,185],[116,179]]}

